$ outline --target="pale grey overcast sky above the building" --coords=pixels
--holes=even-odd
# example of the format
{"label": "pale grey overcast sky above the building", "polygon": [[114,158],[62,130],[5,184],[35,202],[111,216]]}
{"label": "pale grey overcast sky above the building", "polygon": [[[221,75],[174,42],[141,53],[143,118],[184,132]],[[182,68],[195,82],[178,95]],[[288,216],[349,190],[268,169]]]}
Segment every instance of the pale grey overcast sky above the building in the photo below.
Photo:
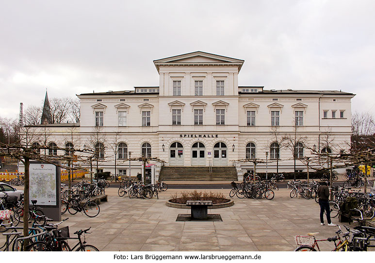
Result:
{"label": "pale grey overcast sky above the building", "polygon": [[158,86],[153,60],[245,60],[239,85],[352,92],[375,112],[374,0],[0,0],[0,116],[19,102]]}

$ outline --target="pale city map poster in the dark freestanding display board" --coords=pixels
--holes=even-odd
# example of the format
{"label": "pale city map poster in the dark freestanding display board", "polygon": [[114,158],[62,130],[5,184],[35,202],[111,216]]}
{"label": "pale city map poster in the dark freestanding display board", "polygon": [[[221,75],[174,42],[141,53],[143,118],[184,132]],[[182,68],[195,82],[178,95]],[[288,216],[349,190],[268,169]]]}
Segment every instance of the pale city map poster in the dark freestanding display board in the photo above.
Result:
{"label": "pale city map poster in the dark freestanding display board", "polygon": [[30,204],[57,205],[56,166],[53,164],[30,164]]}

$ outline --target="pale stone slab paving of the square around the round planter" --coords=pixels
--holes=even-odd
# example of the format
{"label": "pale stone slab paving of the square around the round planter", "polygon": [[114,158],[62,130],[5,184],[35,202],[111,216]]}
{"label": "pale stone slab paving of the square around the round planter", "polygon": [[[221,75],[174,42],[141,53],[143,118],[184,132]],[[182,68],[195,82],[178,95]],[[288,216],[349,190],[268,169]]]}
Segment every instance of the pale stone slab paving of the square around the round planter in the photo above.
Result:
{"label": "pale stone slab paving of the square around the round planter", "polygon": [[[276,191],[273,200],[234,197],[234,206],[209,210],[221,214],[223,222],[176,222],[178,214],[190,214],[165,205],[176,192],[181,189],[147,200],[118,197],[116,188],[108,188],[108,202],[101,203],[97,217],[66,213],[63,218],[69,219],[61,226],[69,226],[71,236],[91,227],[87,242],[104,251],[293,251],[295,235],[320,232],[317,238],[325,239],[338,230],[320,226],[319,205],[313,199],[290,198],[288,189]],[[338,218],[332,222],[337,224]],[[319,246],[323,251],[334,248],[329,242]]]}

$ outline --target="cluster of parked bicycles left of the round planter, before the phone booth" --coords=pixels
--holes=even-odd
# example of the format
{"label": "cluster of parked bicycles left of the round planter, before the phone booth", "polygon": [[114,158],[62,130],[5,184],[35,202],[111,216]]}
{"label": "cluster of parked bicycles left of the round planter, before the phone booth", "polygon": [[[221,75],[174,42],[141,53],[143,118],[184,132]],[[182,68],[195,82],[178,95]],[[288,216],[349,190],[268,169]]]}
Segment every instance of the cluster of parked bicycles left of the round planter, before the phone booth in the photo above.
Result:
{"label": "cluster of parked bicycles left of the round planter, before the phone booth", "polygon": [[156,196],[156,198],[159,199],[158,193],[166,191],[167,189],[168,185],[163,181],[157,182],[156,184],[145,184],[142,181],[134,182],[129,179],[120,183],[117,193],[119,197],[128,195],[129,198],[138,197],[150,199]]}

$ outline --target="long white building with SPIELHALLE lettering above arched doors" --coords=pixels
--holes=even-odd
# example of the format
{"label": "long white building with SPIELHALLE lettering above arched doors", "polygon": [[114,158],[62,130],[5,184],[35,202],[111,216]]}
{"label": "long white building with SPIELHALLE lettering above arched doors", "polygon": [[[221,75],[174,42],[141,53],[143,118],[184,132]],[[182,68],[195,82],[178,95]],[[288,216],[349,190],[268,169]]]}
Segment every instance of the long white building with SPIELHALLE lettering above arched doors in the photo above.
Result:
{"label": "long white building with SPIELHALLE lettering above arched doors", "polygon": [[[325,151],[327,134],[328,151],[349,148],[354,94],[239,86],[243,63],[201,51],[155,60],[158,86],[78,95],[81,122],[47,125],[49,140],[58,147],[75,144],[68,139],[74,127],[73,140],[83,146],[96,133],[105,148],[99,170],[111,173],[141,171],[140,162],[122,161],[131,152],[132,158],[158,157],[164,166],[235,166],[239,180],[253,163],[238,160],[266,160],[266,152],[269,173],[276,172],[277,157],[278,171],[292,172],[291,149],[277,144],[283,136],[301,138],[299,158],[310,156],[311,148]],[[162,164],[151,166],[158,178]],[[257,165],[259,172],[265,168]],[[306,166],[297,160],[296,170]]]}

